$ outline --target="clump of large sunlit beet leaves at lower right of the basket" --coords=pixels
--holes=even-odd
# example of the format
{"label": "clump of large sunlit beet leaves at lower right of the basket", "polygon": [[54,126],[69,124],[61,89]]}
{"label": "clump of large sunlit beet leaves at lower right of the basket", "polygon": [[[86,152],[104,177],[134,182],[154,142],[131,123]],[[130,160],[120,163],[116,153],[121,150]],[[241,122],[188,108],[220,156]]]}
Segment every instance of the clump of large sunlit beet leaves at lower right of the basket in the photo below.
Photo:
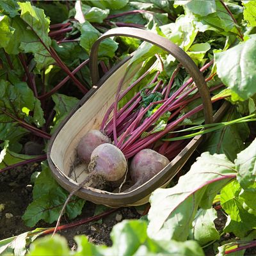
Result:
{"label": "clump of large sunlit beet leaves at lower right of the basket", "polygon": [[[195,227],[198,216],[204,211],[210,211],[208,209],[211,209],[214,197],[219,192],[220,205],[228,214],[223,234],[232,232],[240,239],[248,236],[256,225],[253,200],[255,150],[256,140],[237,154],[234,163],[223,154],[203,153],[196,159],[189,172],[180,177],[176,186],[154,191],[150,197],[148,236],[156,240],[186,241],[191,237],[189,232],[193,225],[192,232],[196,239]],[[209,242],[209,234],[210,241],[218,239],[216,230],[212,231],[209,220],[204,225],[204,231],[199,234],[202,236],[198,235],[196,240],[202,245]]]}

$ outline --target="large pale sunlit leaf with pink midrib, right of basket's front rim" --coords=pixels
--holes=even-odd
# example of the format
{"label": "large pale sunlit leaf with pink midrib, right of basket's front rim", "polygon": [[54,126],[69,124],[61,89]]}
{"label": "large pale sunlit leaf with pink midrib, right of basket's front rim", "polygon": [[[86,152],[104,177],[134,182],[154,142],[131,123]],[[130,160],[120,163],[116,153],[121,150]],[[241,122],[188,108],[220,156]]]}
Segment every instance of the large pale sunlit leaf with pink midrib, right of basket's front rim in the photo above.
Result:
{"label": "large pale sunlit leaf with pink midrib, right of basket's front rim", "polygon": [[203,153],[176,186],[157,189],[150,196],[148,236],[186,240],[198,206],[211,208],[214,196],[234,177],[234,164],[227,157]]}

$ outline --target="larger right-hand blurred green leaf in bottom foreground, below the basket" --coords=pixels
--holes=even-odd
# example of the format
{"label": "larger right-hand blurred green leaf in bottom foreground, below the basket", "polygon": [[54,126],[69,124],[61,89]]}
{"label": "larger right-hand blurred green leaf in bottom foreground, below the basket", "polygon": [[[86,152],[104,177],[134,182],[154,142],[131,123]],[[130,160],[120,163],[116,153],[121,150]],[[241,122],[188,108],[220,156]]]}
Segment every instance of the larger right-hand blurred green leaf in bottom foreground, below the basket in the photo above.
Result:
{"label": "larger right-hand blurred green leaf in bottom foreground, below the basket", "polygon": [[142,220],[124,220],[118,223],[111,231],[111,239],[113,246],[104,255],[204,255],[195,241],[181,243],[150,239],[147,236],[147,222]]}

